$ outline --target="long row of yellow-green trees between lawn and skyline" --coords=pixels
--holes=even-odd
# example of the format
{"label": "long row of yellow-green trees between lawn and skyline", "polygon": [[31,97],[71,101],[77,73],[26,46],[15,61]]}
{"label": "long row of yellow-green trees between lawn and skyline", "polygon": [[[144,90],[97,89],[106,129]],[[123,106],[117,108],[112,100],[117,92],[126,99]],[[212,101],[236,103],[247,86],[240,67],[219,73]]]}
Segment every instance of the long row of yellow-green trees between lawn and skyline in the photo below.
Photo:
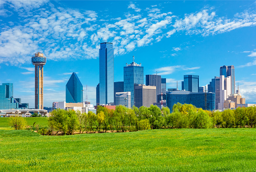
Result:
{"label": "long row of yellow-green trees between lawn and skyline", "polygon": [[[92,111],[56,109],[49,117],[49,130],[59,134],[131,132],[147,129],[174,128],[243,128],[254,127],[256,107],[208,111],[196,108],[192,104],[174,104],[172,112],[168,107],[162,110],[156,105],[127,108],[116,106],[115,111],[97,106],[96,114]],[[52,132],[51,132],[52,133]]]}

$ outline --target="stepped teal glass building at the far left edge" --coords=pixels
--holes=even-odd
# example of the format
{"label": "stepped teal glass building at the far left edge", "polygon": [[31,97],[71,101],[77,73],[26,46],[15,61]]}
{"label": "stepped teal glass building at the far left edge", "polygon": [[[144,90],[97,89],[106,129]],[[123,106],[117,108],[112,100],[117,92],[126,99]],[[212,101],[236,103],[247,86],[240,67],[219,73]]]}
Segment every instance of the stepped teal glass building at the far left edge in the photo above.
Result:
{"label": "stepped teal glass building at the far left edge", "polygon": [[27,109],[28,103],[21,103],[20,98],[13,98],[13,83],[0,85],[0,109]]}

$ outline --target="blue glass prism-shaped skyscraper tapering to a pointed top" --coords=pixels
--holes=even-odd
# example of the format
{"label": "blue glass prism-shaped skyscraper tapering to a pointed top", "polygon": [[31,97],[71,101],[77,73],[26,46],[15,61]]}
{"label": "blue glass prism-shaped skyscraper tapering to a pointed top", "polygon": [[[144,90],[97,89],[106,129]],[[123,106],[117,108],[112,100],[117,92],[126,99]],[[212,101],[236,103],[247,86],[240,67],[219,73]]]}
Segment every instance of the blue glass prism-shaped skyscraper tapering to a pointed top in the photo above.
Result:
{"label": "blue glass prism-shaped skyscraper tapering to a pointed top", "polygon": [[83,85],[75,72],[73,72],[68,83],[66,84],[66,102],[83,102]]}

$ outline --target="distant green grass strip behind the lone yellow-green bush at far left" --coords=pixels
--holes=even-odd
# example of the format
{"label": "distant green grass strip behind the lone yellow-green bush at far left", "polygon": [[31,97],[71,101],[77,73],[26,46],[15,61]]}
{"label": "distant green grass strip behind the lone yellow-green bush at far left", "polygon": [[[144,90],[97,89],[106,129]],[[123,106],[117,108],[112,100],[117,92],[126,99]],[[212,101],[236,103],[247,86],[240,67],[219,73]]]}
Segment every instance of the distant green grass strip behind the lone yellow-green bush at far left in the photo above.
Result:
{"label": "distant green grass strip behind the lone yellow-green bush at far left", "polygon": [[[38,124],[42,127],[48,126],[48,118],[45,117],[30,117],[25,118],[29,126],[33,126],[34,122],[35,124]],[[0,118],[0,128],[8,128],[9,125],[9,118]]]}

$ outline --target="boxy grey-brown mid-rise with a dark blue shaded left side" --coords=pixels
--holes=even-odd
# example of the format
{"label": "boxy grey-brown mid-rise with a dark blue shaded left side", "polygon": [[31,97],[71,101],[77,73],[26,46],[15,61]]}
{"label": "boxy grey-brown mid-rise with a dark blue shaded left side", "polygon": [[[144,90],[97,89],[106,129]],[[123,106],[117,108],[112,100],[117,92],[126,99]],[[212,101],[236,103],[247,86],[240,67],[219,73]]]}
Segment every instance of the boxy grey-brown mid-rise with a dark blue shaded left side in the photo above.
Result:
{"label": "boxy grey-brown mid-rise with a dark blue shaded left side", "polygon": [[157,102],[156,86],[145,86],[139,84],[135,86],[135,106],[150,107],[151,104]]}

